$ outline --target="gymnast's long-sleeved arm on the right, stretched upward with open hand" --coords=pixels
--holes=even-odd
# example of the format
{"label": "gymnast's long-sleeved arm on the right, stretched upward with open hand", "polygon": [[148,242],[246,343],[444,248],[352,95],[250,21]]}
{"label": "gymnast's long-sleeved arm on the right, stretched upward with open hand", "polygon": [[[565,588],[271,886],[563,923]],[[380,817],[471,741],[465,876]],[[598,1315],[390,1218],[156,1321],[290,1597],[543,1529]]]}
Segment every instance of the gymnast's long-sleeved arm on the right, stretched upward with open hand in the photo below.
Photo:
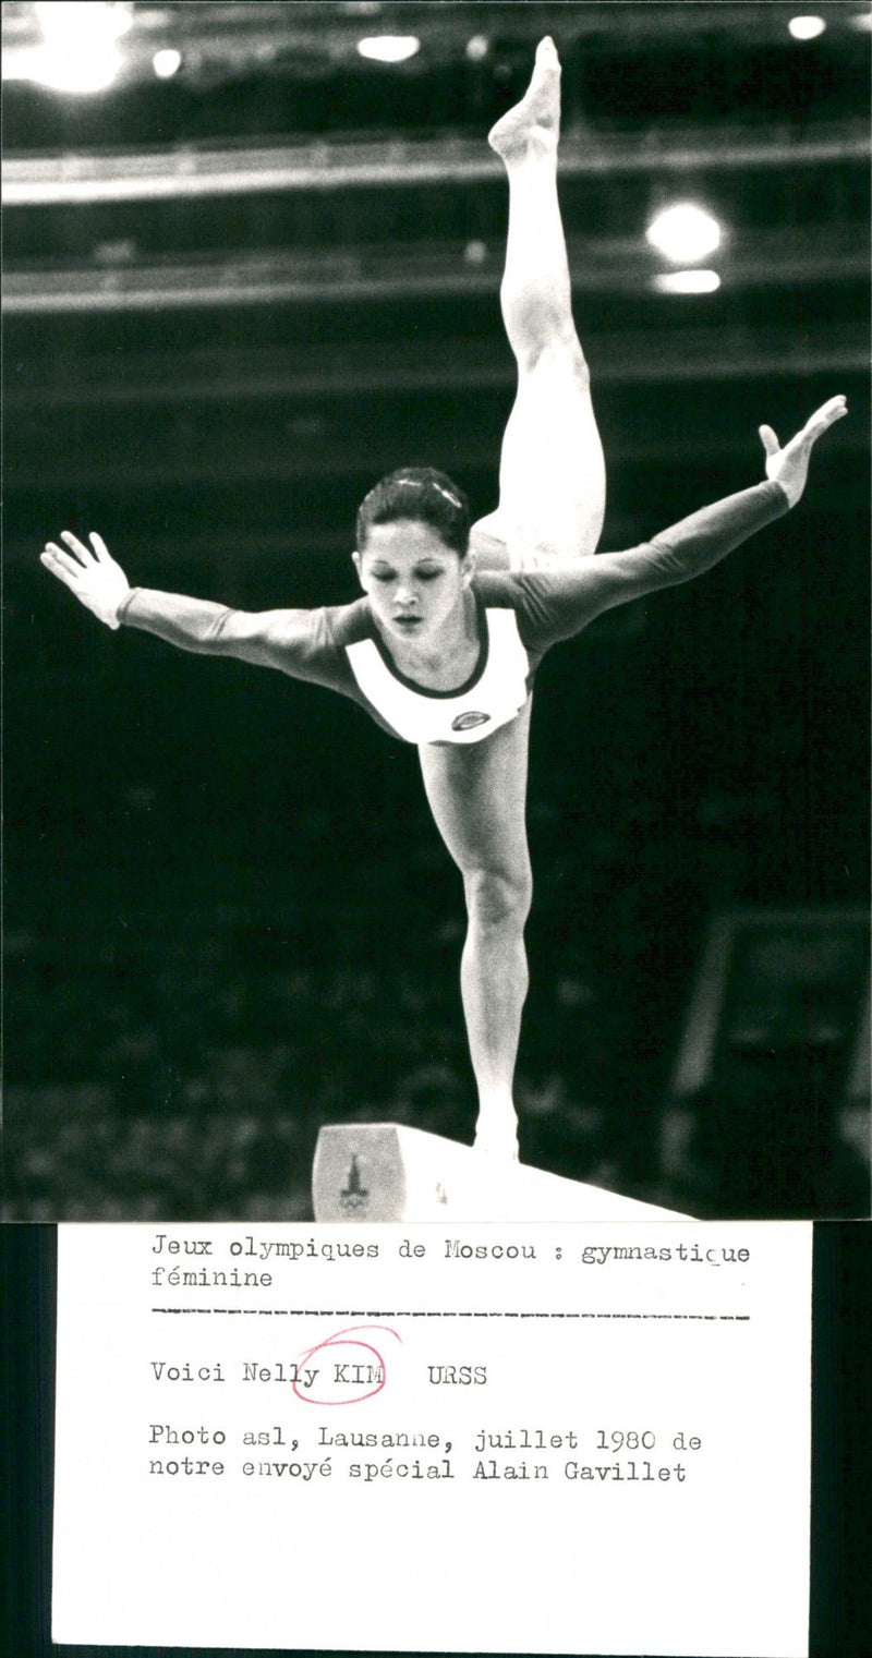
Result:
{"label": "gymnast's long-sleeved arm on the right, stretched upward with open hand", "polygon": [[[784,448],[779,446],[771,426],[761,426],[769,482],[716,501],[628,552],[584,559],[577,570],[560,575],[530,575],[530,589],[535,582],[554,584],[550,594],[544,587],[540,595],[555,623],[552,638],[570,638],[613,605],[642,599],[661,587],[690,582],[719,564],[756,531],[787,512],[806,487],[809,456],[817,438],[844,414],[847,414],[845,400],[831,398]],[[534,590],[530,599],[535,599]]]}

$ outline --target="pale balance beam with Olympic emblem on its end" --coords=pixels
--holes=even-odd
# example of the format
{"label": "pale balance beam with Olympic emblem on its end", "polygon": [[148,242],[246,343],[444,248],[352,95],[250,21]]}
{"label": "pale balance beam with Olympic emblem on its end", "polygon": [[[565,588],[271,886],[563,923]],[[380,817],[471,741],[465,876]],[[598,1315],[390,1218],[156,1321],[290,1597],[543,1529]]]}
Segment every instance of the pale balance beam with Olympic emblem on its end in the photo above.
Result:
{"label": "pale balance beam with Olympic emblem on its end", "polygon": [[315,1220],[685,1220],[400,1122],[322,1127]]}

